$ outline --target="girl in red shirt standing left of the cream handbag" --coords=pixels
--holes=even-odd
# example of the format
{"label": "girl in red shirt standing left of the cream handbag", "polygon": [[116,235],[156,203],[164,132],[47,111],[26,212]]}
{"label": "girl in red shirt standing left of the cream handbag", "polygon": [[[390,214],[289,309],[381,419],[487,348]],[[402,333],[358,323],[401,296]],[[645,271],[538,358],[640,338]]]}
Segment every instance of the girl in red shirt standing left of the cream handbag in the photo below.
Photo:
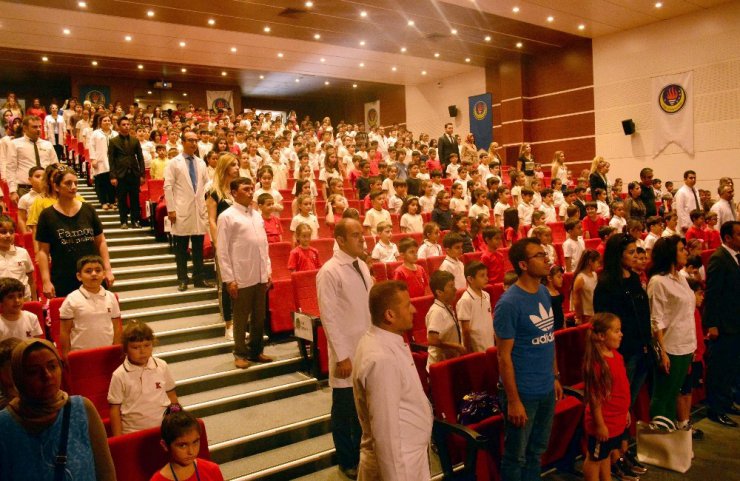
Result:
{"label": "girl in red shirt standing left of the cream handbag", "polygon": [[622,322],[610,313],[595,314],[586,336],[583,379],[586,381],[588,453],[586,481],[610,481],[611,463],[619,458],[622,434],[629,424],[630,387],[624,358],[617,352]]}

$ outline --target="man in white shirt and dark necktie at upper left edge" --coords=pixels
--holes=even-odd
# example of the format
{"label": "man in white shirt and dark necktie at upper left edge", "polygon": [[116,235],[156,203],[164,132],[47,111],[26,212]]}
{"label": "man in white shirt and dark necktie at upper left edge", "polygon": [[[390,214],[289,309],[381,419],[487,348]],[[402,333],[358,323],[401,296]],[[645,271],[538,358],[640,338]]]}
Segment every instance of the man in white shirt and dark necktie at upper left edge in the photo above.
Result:
{"label": "man in white shirt and dark necktie at upper left edge", "polygon": [[23,118],[23,137],[10,142],[8,148],[8,165],[6,175],[10,199],[18,203],[26,192],[31,190],[28,183],[28,170],[39,166],[46,168],[51,164],[58,164],[59,157],[51,142],[40,138],[41,119],[35,115]]}

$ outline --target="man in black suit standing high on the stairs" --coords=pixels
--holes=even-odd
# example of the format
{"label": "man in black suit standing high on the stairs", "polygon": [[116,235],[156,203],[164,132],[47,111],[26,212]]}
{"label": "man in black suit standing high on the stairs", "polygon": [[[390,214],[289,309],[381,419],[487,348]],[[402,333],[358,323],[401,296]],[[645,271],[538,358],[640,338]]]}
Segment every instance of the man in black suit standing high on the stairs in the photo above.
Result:
{"label": "man in black suit standing high on the stairs", "polygon": [[110,163],[110,183],[117,190],[118,212],[121,229],[128,229],[129,205],[131,225],[141,227],[141,208],[139,206],[139,186],[144,184],[144,154],[136,137],[130,135],[131,121],[124,117],[118,121],[118,137],[108,143],[108,162]]}

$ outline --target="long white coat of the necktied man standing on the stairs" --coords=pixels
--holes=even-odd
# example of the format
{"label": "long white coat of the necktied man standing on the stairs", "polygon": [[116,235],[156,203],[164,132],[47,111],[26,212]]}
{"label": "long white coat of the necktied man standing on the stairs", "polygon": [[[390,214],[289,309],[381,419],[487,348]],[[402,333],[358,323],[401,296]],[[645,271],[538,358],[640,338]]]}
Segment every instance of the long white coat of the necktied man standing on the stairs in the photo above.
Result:
{"label": "long white coat of the necktied man standing on the stairs", "polygon": [[208,183],[206,164],[195,157],[195,171],[198,178],[195,192],[190,180],[188,160],[184,154],[174,157],[164,168],[164,198],[167,211],[176,214],[172,224],[172,235],[204,235],[208,231],[208,211],[206,210],[205,188]]}

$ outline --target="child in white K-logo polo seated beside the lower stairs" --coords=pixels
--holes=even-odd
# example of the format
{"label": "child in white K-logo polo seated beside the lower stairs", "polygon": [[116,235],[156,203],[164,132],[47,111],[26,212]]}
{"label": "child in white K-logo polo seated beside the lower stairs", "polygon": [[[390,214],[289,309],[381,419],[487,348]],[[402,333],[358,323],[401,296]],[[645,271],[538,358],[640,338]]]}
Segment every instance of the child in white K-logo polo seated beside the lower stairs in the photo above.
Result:
{"label": "child in white K-logo polo seated beside the lower stairs", "polygon": [[152,356],[153,350],[152,328],[129,322],[123,330],[126,359],[113,371],[108,388],[113,436],[159,426],[165,409],[178,404],[175,380],[167,363]]}

